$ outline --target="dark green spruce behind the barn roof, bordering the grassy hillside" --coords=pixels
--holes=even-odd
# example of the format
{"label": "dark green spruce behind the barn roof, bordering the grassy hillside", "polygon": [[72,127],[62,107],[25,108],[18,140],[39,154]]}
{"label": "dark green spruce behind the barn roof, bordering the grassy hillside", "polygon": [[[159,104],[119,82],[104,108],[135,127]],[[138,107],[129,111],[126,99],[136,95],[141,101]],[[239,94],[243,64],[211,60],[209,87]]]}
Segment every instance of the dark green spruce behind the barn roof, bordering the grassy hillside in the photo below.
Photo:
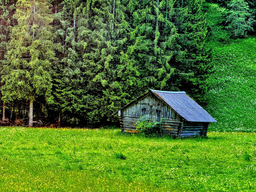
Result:
{"label": "dark green spruce behind the barn roof, bordering the grassy hillside", "polygon": [[207,26],[202,12],[204,0],[179,0],[174,3],[171,21],[177,28],[177,41],[170,61],[175,68],[174,87],[186,91],[203,104],[207,92],[210,50],[205,47]]}

